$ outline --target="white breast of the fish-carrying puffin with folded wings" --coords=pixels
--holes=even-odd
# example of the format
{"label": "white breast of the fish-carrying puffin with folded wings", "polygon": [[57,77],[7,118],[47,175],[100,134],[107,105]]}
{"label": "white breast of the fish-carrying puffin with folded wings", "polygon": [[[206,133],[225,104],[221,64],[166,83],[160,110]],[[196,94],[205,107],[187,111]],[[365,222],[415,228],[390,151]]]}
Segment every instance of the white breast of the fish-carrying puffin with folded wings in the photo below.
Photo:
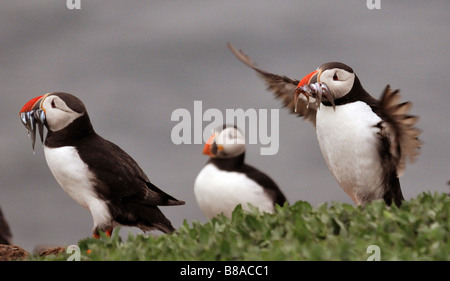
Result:
{"label": "white breast of the fish-carrying puffin with folded wings", "polygon": [[87,165],[72,146],[48,148],[44,146],[48,167],[62,189],[78,204],[88,209],[94,223],[109,219],[106,204],[100,200],[92,186],[94,178]]}

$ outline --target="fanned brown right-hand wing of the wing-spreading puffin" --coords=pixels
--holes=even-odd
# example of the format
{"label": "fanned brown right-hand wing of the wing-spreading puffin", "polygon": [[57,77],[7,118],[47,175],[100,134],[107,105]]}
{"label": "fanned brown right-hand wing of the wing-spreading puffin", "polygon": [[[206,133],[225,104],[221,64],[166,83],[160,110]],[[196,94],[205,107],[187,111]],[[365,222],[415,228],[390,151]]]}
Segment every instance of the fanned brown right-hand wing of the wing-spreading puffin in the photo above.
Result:
{"label": "fanned brown right-hand wing of the wing-spreading puffin", "polygon": [[381,96],[380,109],[385,120],[380,134],[389,141],[389,154],[401,177],[405,171],[406,161],[413,163],[419,155],[422,142],[421,130],[414,127],[419,117],[409,115],[411,102],[400,103],[399,90],[392,91],[387,85]]}

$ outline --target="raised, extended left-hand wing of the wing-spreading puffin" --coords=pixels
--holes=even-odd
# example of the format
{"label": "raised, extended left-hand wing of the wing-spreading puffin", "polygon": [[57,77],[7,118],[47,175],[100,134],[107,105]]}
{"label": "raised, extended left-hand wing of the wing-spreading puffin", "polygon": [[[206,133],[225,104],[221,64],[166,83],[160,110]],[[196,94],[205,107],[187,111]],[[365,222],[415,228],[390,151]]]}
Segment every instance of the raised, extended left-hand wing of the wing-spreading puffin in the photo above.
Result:
{"label": "raised, extended left-hand wing of the wing-spreading puffin", "polygon": [[287,76],[280,76],[259,69],[256,67],[256,64],[252,62],[250,57],[242,52],[242,50],[237,50],[231,43],[228,43],[228,48],[241,62],[254,69],[258,75],[264,79],[267,89],[273,92],[277,99],[281,100],[284,107],[287,107],[291,113],[302,116],[306,120],[312,122],[314,126],[316,125],[317,106],[314,98],[310,98],[308,102],[303,95],[299,96],[297,111],[295,111],[293,94],[300,82],[299,80],[294,80]]}

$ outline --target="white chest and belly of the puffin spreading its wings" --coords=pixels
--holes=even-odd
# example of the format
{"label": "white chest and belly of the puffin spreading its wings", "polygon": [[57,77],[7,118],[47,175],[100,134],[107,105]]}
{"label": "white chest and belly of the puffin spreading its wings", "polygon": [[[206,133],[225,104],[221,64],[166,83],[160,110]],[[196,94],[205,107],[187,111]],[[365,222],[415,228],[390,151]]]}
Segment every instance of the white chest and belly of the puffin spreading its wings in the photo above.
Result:
{"label": "white chest and belly of the puffin spreading its wings", "polygon": [[320,149],[333,176],[355,201],[381,192],[382,167],[376,127],[381,119],[363,102],[317,111],[316,132]]}

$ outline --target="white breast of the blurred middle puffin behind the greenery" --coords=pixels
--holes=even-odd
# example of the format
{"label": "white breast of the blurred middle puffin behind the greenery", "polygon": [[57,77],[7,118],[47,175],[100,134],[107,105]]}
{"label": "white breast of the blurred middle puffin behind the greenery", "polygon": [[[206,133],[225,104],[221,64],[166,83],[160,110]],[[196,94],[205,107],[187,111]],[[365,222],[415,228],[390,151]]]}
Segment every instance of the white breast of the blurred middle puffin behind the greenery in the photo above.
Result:
{"label": "white breast of the blurred middle puffin behind the greenery", "polygon": [[231,217],[233,209],[241,204],[248,210],[248,203],[260,211],[273,212],[273,202],[263,188],[244,174],[219,170],[207,164],[194,183],[197,203],[203,213],[212,218],[220,213]]}

